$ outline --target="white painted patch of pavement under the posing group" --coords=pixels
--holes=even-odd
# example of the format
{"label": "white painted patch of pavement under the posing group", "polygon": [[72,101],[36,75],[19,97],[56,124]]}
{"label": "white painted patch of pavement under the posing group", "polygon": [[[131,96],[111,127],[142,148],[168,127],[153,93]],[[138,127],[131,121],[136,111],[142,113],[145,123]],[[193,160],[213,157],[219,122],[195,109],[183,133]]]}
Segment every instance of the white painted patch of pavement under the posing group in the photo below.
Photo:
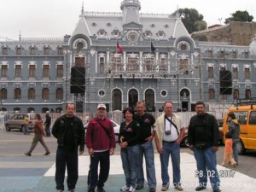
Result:
{"label": "white painted patch of pavement under the posing group", "polygon": [[[155,161],[155,172],[157,178],[157,191],[161,189],[161,172],[160,172],[160,157],[159,154],[154,155]],[[171,161],[170,161],[171,162]],[[87,177],[90,165],[89,156],[79,156],[79,179],[81,177]],[[145,166],[145,165],[144,165]],[[169,165],[170,178],[172,179],[172,165]],[[144,169],[145,171],[145,169]],[[236,169],[229,169],[224,166],[218,166],[218,174],[221,181],[220,189],[222,191],[247,191],[254,192],[256,186],[256,179],[248,177],[247,175],[236,172]],[[51,166],[49,170],[44,174],[44,177],[54,177],[55,165]],[[146,175],[146,174],[144,174]],[[183,185],[183,191],[195,191],[195,187],[198,182],[198,172],[196,172],[195,158],[191,154],[181,153],[181,183]],[[84,184],[86,185],[86,180]],[[170,181],[172,183],[172,180]],[[122,163],[119,155],[111,156],[111,169],[108,183],[106,183],[106,191],[119,191],[119,188],[125,184],[124,172],[122,169]],[[79,186],[79,185],[78,185]],[[86,188],[86,186],[85,186]],[[170,188],[173,188],[170,186]],[[174,190],[174,189],[171,189]],[[82,189],[82,191],[86,191]],[[147,184],[144,184],[144,188],[140,190],[148,191]],[[204,190],[212,191],[210,183],[208,181],[207,189]]]}

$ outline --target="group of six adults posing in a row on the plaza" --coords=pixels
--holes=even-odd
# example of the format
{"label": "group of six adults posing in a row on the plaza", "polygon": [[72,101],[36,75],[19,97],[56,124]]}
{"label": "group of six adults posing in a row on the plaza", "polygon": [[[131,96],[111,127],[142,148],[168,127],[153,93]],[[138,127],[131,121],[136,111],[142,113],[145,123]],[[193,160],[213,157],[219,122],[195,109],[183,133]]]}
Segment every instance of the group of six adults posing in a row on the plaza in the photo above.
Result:
{"label": "group of six adults posing in a row on the plaza", "polygon": [[[116,147],[113,125],[106,117],[107,108],[104,104],[98,105],[97,116],[90,119],[85,138],[83,122],[74,115],[74,103],[67,103],[66,111],[66,114],[55,120],[52,127],[52,134],[57,138],[58,143],[55,162],[56,189],[58,192],[64,191],[67,167],[68,191],[76,191],[75,186],[79,178],[78,155],[84,153],[85,144],[90,154],[88,192],[95,192],[95,189],[97,192],[105,192],[103,187],[108,180],[110,155],[114,154]],[[207,177],[210,177],[213,192],[219,192],[220,181],[216,160],[218,122],[212,114],[205,112],[204,102],[196,102],[195,111],[197,114],[190,119],[188,132],[189,148],[194,151],[199,178],[199,185],[195,190],[206,189]],[[153,140],[160,154],[161,191],[166,191],[170,186],[168,172],[170,156],[173,187],[182,191],[180,143],[185,126],[183,120],[173,113],[172,102],[165,102],[164,113],[157,119],[145,112],[144,102],[137,102],[137,113],[133,108],[125,108],[123,115],[125,121],[121,123],[119,129],[119,146],[125,185],[120,191],[134,192],[136,189],[143,189],[146,180],[143,175],[144,159],[149,191],[156,191]],[[98,166],[100,166],[99,171]],[[208,172],[211,172],[211,175]]]}

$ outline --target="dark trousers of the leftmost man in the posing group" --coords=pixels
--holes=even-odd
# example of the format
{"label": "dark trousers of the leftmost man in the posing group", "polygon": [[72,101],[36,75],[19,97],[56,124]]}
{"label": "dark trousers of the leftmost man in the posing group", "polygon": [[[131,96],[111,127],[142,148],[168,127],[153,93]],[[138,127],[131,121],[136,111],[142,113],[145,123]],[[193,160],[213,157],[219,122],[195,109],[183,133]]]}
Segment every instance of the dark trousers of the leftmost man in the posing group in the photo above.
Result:
{"label": "dark trousers of the leftmost man in the posing group", "polygon": [[56,189],[64,190],[64,179],[67,166],[67,188],[75,189],[79,179],[79,155],[77,151],[57,148],[55,182]]}

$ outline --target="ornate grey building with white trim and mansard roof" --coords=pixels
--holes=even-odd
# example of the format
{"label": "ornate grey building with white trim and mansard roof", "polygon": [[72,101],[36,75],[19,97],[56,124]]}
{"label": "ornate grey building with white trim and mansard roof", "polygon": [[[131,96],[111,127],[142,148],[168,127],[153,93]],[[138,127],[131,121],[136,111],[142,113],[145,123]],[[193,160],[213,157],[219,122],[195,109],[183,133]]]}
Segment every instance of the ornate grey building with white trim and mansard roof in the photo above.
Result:
{"label": "ornate grey building with white trim and mansard roof", "polygon": [[143,100],[148,111],[166,101],[191,111],[203,100],[216,110],[255,96],[254,43],[199,42],[179,15],[142,14],[138,0],[124,0],[120,9],[83,8],[64,38],[0,42],[1,108],[60,112],[76,102],[78,112],[95,112],[104,102],[113,111]]}

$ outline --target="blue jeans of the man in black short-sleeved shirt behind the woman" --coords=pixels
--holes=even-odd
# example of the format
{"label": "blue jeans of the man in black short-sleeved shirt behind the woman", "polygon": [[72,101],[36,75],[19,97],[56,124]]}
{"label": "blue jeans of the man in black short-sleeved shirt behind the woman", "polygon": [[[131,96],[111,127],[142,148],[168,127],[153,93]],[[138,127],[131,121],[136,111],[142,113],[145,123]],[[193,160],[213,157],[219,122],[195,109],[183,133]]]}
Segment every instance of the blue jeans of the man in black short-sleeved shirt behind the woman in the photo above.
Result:
{"label": "blue jeans of the man in black short-sleeved shirt behind the woman", "polygon": [[139,158],[137,166],[137,184],[144,184],[143,174],[143,154],[146,161],[147,179],[149,188],[156,188],[155,169],[154,169],[154,146],[152,142],[139,144]]}

